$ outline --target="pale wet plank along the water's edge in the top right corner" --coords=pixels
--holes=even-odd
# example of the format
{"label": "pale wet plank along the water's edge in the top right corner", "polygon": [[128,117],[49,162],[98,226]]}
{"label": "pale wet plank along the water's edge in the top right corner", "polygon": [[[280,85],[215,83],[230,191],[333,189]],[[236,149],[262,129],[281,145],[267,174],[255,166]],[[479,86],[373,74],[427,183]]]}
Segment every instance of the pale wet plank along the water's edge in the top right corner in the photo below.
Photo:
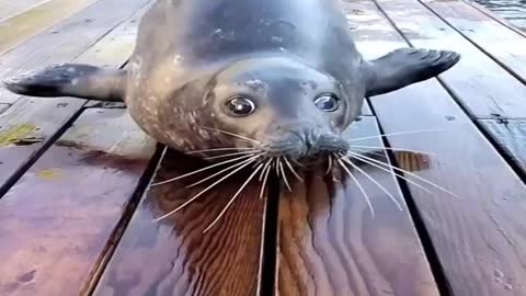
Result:
{"label": "pale wet plank along the water's edge in the top right corner", "polygon": [[526,84],[525,36],[464,1],[422,2]]}

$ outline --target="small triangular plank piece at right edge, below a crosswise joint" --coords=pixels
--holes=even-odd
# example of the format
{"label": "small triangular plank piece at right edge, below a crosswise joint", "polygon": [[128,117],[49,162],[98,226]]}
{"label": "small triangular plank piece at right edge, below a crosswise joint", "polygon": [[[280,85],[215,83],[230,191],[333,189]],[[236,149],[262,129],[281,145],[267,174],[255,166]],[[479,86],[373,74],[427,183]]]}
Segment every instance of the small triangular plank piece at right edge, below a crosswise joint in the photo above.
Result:
{"label": "small triangular plank piece at right edge, below a crosswise joint", "polygon": [[526,175],[526,121],[479,121]]}

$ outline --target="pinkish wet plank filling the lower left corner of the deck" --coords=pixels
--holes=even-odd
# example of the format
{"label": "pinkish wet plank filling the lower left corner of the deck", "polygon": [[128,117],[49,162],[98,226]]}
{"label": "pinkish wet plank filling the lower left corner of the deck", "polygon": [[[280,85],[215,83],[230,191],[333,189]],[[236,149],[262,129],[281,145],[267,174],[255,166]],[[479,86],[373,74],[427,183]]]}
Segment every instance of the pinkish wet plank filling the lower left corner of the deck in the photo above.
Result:
{"label": "pinkish wet plank filling the lower left corner of the deck", "polygon": [[156,143],[123,110],[88,110],[0,200],[0,295],[79,295]]}

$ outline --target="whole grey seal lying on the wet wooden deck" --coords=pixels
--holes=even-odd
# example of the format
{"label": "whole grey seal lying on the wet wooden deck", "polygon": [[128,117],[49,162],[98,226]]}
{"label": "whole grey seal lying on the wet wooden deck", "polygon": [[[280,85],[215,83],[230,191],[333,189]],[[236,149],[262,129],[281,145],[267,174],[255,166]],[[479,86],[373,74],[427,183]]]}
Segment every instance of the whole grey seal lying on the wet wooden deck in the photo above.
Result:
{"label": "whole grey seal lying on the wet wooden deck", "polygon": [[299,160],[345,153],[340,134],[365,96],[436,77],[459,58],[400,48],[365,60],[332,0],[159,0],[126,68],[65,64],[5,87],[124,101],[148,135],[182,152],[254,147]]}

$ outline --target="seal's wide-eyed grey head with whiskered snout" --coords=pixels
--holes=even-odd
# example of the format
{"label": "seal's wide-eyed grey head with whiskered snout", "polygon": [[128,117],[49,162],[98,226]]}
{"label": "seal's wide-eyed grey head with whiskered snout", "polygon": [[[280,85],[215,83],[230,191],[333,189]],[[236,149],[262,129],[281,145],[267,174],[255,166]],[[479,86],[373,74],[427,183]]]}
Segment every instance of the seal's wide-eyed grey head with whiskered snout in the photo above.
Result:
{"label": "seal's wide-eyed grey head with whiskered snout", "polygon": [[296,161],[344,153],[348,145],[340,134],[358,114],[340,81],[290,58],[230,64],[207,96],[215,126],[240,136],[216,135],[224,147],[235,140],[236,147]]}

